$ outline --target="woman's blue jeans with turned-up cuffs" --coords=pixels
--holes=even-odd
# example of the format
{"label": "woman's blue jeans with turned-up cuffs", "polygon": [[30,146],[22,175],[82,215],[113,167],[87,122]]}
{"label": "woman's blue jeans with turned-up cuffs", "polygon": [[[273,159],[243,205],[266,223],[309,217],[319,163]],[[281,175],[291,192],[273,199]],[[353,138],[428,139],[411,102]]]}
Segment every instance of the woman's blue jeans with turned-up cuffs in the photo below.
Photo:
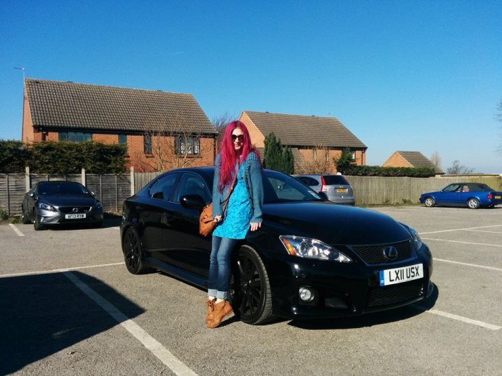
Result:
{"label": "woman's blue jeans with turned-up cuffs", "polygon": [[231,251],[237,242],[236,239],[213,235],[213,247],[209,258],[208,297],[228,300]]}

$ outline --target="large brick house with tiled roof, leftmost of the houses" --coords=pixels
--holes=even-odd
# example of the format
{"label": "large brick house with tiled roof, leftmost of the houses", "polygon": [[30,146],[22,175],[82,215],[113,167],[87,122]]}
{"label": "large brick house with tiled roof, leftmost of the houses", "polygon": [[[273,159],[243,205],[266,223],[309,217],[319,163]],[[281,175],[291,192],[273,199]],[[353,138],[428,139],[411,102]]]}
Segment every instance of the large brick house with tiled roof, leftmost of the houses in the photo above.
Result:
{"label": "large brick house with tiled roof, leftmost of the houses", "polygon": [[136,171],[162,171],[212,165],[217,135],[191,94],[24,80],[25,143],[123,143]]}

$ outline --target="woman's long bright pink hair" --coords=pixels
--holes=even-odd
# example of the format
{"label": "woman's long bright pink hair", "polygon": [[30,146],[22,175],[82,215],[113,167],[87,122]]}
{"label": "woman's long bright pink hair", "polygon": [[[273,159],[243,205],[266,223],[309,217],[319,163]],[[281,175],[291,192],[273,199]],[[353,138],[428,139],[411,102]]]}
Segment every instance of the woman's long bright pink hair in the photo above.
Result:
{"label": "woman's long bright pink hair", "polygon": [[241,153],[241,162],[244,162],[246,157],[250,152],[254,152],[257,155],[258,161],[261,164],[261,157],[258,150],[253,148],[251,144],[251,137],[248,132],[248,128],[245,127],[241,120],[234,120],[227,124],[225,127],[225,133],[223,134],[222,143],[220,146],[221,155],[221,166],[220,166],[220,182],[218,183],[218,189],[223,191],[223,188],[232,180],[232,172],[235,169],[237,163],[237,155],[234,149],[234,143],[231,140],[231,134],[236,128],[243,131],[243,145]]}

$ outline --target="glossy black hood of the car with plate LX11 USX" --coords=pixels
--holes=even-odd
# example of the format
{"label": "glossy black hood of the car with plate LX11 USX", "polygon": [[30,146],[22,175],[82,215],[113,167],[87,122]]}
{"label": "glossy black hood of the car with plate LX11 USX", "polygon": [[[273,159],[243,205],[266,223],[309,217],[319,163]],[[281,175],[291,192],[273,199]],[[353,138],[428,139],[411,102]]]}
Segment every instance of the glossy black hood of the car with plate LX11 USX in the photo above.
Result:
{"label": "glossy black hood of the car with plate LX11 USX", "polygon": [[386,214],[326,202],[267,203],[267,227],[281,235],[312,237],[328,244],[384,244],[409,240],[402,224]]}

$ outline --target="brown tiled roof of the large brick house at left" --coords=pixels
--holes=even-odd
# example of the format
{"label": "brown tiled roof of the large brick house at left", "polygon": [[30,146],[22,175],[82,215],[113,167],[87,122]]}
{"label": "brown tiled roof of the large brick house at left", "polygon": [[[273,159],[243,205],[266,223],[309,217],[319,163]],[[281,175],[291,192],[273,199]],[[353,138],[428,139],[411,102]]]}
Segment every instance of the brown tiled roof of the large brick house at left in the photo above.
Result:
{"label": "brown tiled roof of the large brick house at left", "polygon": [[41,79],[24,84],[35,126],[144,132],[167,123],[181,132],[217,133],[191,94]]}

